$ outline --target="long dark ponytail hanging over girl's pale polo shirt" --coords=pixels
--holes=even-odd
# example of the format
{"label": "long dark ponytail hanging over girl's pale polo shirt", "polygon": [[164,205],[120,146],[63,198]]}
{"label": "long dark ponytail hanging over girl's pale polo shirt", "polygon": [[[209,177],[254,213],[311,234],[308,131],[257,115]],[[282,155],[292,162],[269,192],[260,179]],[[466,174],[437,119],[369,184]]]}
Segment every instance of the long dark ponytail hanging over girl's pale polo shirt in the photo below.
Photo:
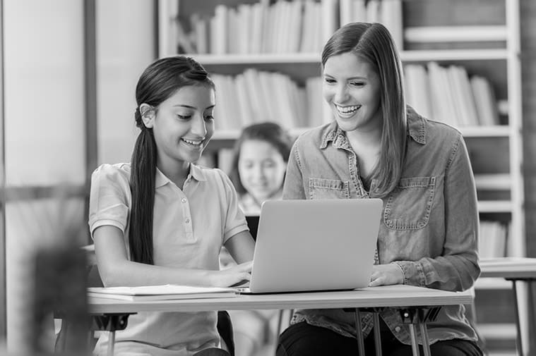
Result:
{"label": "long dark ponytail hanging over girl's pale polo shirt", "polygon": [[146,128],[140,109],[134,113],[141,133],[132,152],[129,247],[131,261],[154,264],[153,209],[155,204],[156,145],[153,129]]}

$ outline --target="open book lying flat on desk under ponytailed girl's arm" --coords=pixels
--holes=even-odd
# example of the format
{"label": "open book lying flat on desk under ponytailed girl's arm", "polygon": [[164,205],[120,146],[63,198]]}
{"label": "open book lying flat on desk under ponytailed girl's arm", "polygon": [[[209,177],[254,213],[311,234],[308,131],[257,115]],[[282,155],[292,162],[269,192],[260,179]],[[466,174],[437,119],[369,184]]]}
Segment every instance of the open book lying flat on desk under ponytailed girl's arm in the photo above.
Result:
{"label": "open book lying flat on desk under ponytailed girl's arm", "polygon": [[130,300],[133,302],[140,302],[143,300],[234,297],[236,295],[237,290],[234,288],[193,287],[179,286],[176,284],[166,284],[163,286],[88,288],[89,297]]}

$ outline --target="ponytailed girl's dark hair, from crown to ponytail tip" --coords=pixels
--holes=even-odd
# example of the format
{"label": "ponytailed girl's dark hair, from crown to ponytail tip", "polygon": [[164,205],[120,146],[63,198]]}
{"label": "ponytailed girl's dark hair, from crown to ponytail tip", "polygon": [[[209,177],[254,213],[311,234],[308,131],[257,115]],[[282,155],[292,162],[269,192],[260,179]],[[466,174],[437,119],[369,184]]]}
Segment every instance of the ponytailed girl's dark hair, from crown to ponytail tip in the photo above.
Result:
{"label": "ponytailed girl's dark hair, from crown to ponytail tip", "polygon": [[157,149],[153,129],[143,124],[141,104],[156,111],[158,106],[181,87],[210,85],[213,82],[201,64],[185,56],[158,59],[142,73],[136,85],[136,126],[141,129],[132,152],[130,188],[129,249],[131,261],[154,264],[153,209],[155,205],[155,174]]}

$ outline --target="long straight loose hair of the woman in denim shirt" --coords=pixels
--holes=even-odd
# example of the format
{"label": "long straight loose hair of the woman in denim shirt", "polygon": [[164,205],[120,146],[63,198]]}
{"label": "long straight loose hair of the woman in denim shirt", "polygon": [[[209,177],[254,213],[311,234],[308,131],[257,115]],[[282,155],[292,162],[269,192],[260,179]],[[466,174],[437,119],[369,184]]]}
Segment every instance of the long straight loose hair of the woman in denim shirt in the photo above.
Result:
{"label": "long straight loose hair of the woman in denim shirt", "polygon": [[393,37],[380,23],[349,23],[328,39],[322,51],[322,66],[331,56],[351,52],[367,61],[381,82],[383,130],[379,164],[371,178],[379,180],[376,195],[388,195],[402,175],[405,159],[407,118],[403,70]]}

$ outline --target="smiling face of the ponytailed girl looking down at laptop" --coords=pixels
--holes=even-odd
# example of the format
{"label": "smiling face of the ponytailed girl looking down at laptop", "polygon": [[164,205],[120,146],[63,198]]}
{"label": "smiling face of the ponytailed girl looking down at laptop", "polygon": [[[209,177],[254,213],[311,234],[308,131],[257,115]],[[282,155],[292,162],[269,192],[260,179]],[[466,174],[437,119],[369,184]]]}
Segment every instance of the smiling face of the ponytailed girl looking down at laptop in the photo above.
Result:
{"label": "smiling face of the ponytailed girl looking down at laptop", "polygon": [[181,87],[153,114],[158,161],[195,162],[214,133],[214,90],[208,85]]}

